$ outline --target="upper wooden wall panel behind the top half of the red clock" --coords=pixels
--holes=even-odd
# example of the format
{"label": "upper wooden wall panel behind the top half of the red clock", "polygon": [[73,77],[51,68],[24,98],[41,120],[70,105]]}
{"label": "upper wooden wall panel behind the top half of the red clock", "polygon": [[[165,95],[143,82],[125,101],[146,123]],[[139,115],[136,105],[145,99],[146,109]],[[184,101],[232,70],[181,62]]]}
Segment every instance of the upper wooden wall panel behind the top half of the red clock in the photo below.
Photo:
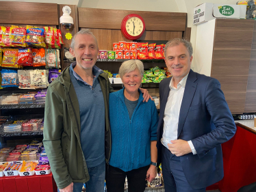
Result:
{"label": "upper wooden wall panel behind the top half of the red clock", "polygon": [[105,10],[78,8],[79,27],[120,29],[122,20],[127,14],[138,14],[145,21],[147,31],[185,31],[186,13],[142,12],[127,10]]}

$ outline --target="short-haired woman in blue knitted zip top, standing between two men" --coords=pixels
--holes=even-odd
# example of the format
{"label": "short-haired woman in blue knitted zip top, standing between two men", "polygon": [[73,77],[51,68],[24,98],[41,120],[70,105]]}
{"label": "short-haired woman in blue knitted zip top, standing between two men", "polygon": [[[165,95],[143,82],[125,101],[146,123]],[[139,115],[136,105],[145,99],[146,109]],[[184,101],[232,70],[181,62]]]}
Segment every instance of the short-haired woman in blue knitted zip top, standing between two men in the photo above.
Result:
{"label": "short-haired woman in blue knitted zip top, standing between two men", "polygon": [[140,60],[129,60],[120,66],[124,88],[110,94],[110,127],[112,152],[106,169],[107,192],[143,192],[145,180],[156,174],[158,114],[152,100],[142,102],[140,85],[144,73]]}

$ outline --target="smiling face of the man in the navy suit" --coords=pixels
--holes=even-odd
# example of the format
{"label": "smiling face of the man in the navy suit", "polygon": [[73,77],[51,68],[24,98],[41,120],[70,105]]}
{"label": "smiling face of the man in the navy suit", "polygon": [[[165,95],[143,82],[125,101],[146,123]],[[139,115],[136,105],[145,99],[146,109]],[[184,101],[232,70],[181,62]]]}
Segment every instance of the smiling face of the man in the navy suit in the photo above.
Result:
{"label": "smiling face of the man in the navy suit", "polygon": [[166,49],[166,59],[164,60],[176,85],[190,72],[192,56],[190,56],[188,49],[182,43],[168,46]]}

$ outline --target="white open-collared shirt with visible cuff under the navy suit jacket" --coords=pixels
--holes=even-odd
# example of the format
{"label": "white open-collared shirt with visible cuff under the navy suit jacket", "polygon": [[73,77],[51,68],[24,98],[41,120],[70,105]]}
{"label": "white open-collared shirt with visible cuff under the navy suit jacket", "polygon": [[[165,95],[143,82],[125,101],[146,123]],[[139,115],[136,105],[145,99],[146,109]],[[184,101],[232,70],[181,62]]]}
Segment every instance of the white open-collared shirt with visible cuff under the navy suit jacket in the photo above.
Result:
{"label": "white open-collared shirt with visible cuff under the navy suit jacket", "polygon": [[[187,82],[188,74],[178,83],[177,88],[173,85],[173,78],[170,80],[170,92],[164,110],[164,133],[161,139],[163,146],[168,148],[171,140],[178,138],[179,111]],[[188,141],[193,154],[196,154],[192,141]]]}

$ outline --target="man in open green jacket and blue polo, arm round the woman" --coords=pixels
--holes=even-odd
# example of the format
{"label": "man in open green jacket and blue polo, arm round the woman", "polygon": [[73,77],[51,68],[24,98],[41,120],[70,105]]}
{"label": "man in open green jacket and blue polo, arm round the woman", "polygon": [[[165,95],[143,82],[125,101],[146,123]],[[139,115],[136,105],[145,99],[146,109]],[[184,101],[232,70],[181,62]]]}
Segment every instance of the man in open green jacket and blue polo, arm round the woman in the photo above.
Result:
{"label": "man in open green jacket and blue polo, arm round the woman", "polygon": [[75,34],[70,52],[76,62],[47,90],[44,148],[60,192],[81,192],[84,182],[86,192],[103,191],[111,150],[108,103],[113,89],[107,73],[94,66],[99,47],[88,29]]}

